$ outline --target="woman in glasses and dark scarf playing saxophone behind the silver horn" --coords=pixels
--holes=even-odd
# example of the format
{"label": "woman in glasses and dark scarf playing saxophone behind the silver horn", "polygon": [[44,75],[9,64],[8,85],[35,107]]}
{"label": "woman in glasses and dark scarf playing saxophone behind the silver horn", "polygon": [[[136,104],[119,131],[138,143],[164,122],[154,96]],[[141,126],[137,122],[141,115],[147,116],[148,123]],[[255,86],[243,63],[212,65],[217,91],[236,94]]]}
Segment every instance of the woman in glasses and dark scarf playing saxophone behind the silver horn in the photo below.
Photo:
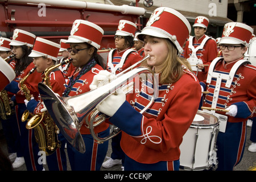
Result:
{"label": "woman in glasses and dark scarf playing saxophone behind the silver horn", "polygon": [[[89,85],[94,75],[104,69],[103,59],[98,55],[100,43],[104,31],[101,27],[86,20],[75,20],[71,35],[67,43],[70,43],[72,64],[76,69],[72,72],[69,81],[65,85],[64,97],[77,96],[90,91]],[[109,124],[102,123],[95,128],[101,137],[109,134]],[[82,125],[80,133],[85,142],[86,151],[81,154],[70,143],[67,143],[68,158],[71,169],[76,170],[100,170],[108,151],[108,141],[98,144],[90,135],[89,129]]]}

